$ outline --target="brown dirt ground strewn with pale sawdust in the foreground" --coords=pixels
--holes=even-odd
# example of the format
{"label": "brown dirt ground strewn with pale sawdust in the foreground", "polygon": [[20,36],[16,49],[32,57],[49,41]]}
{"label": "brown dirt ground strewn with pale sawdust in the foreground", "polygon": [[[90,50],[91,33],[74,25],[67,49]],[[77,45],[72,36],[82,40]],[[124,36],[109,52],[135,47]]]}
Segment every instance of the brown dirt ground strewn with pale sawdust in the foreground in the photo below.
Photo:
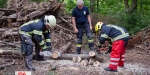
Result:
{"label": "brown dirt ground strewn with pale sawdust in the foreground", "polygon": [[[104,70],[109,65],[109,54],[104,56],[106,58],[99,67],[93,65],[83,67],[80,63],[74,63],[72,60],[33,60],[36,71],[32,71],[32,75],[150,75],[149,50],[127,49],[125,67],[118,67],[118,72]],[[0,75],[15,75],[15,71],[27,71],[23,60],[16,60],[14,65],[1,69]]]}

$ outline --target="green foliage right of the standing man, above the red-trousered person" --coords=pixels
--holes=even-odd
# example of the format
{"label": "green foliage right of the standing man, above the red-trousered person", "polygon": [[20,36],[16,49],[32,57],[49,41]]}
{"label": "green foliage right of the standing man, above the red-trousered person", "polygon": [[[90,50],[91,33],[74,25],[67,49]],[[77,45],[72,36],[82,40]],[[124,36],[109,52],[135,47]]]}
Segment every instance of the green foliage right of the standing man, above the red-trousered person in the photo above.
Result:
{"label": "green foliage right of the standing man, above the red-trousered person", "polygon": [[[129,0],[129,7],[131,7],[131,2],[132,0]],[[100,0],[100,6],[98,7],[99,10],[97,11],[100,15],[110,16],[110,18],[113,18],[112,20],[117,20],[115,23],[112,24],[125,27],[132,35],[147,27],[150,23],[149,3],[149,0],[138,0],[137,11],[128,14],[126,12],[127,10],[125,9],[123,0]]]}

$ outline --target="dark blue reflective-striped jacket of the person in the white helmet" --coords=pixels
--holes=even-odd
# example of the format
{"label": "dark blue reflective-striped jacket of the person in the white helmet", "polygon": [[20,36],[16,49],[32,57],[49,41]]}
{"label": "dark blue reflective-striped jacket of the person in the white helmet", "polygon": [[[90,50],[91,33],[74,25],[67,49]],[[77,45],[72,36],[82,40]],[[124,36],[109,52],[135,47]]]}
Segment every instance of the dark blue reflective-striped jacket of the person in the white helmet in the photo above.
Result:
{"label": "dark blue reflective-striped jacket of the person in the white helmet", "polygon": [[[34,36],[42,49],[46,49],[47,46],[50,45],[50,32],[45,29],[44,22],[40,19],[23,24],[19,29],[19,33],[30,37]],[[47,46],[45,41],[42,39],[42,35],[44,35]]]}

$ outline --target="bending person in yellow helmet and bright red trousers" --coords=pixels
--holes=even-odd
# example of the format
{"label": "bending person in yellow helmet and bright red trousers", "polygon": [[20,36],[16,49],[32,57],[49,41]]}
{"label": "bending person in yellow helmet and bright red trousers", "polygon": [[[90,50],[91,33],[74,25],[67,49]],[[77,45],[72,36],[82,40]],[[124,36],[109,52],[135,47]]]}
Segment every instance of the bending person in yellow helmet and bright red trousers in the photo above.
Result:
{"label": "bending person in yellow helmet and bright red trousers", "polygon": [[110,53],[109,67],[104,68],[106,71],[117,72],[117,66],[124,67],[125,50],[129,40],[129,33],[123,27],[116,25],[106,25],[98,22],[95,25],[95,32],[100,33],[99,44],[110,38],[112,41],[112,51]]}

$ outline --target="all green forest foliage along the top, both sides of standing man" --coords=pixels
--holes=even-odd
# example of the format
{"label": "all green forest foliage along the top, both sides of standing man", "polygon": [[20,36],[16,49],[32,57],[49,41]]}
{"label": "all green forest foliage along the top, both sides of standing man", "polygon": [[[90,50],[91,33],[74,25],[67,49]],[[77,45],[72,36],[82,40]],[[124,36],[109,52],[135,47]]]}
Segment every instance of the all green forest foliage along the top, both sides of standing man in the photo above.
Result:
{"label": "all green forest foliage along the top, both sides of standing man", "polygon": [[[0,0],[0,7],[5,7],[7,1],[8,0]],[[31,1],[40,3],[44,0]],[[60,2],[62,0],[57,1]],[[98,5],[97,1],[99,1]],[[128,1],[129,7],[131,8],[132,0]],[[150,23],[150,0],[137,1],[137,11],[131,14],[126,13],[127,9],[125,9],[124,0],[94,0],[94,3],[90,3],[90,0],[84,0],[84,5],[87,6],[90,10],[90,4],[94,4],[94,13],[99,14],[100,20],[105,20],[104,22],[121,25],[125,27],[130,32],[130,34],[134,34],[140,31],[142,28],[147,27]],[[66,3],[66,13],[71,15],[73,8],[76,6],[76,0],[64,0],[64,2]]]}

